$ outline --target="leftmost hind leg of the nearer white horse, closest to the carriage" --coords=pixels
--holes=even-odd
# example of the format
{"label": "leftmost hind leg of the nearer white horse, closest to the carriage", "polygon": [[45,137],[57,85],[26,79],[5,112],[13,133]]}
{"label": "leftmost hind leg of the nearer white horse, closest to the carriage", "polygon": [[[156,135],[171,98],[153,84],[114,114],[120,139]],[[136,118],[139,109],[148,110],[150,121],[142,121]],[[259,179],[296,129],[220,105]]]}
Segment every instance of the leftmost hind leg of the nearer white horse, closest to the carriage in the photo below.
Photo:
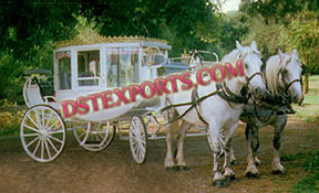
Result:
{"label": "leftmost hind leg of the nearer white horse, closest to the carriage", "polygon": [[[174,111],[169,111],[174,117],[177,116],[177,112],[174,110]],[[168,119],[168,112],[165,116],[165,120],[169,120]],[[176,121],[175,122],[172,122],[172,124],[168,124],[166,126],[166,157],[165,157],[165,160],[164,160],[164,168],[167,169],[167,170],[171,170],[171,169],[174,169],[175,168],[175,162],[174,162],[174,156],[173,156],[173,141],[174,141],[174,135],[173,135],[173,129],[174,129],[174,126],[176,125]]]}

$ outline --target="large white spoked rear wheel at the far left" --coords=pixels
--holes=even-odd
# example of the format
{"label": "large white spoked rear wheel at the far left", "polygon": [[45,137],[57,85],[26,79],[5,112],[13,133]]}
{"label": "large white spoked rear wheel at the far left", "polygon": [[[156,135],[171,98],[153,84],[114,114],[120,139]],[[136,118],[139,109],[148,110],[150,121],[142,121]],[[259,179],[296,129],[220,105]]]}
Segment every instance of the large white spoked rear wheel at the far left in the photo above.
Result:
{"label": "large white spoked rear wheel at the far left", "polygon": [[48,106],[35,106],[22,119],[20,138],[32,159],[49,162],[64,148],[65,127],[58,111]]}

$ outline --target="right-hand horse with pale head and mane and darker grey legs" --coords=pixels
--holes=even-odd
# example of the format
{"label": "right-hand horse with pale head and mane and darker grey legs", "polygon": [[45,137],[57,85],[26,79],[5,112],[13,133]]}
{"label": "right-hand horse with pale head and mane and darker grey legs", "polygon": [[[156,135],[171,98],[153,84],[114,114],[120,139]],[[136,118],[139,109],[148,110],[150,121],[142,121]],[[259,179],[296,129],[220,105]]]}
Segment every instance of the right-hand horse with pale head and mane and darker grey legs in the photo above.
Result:
{"label": "right-hand horse with pale head and mane and darker grey legs", "polygon": [[[275,128],[274,135],[274,159],[272,159],[272,172],[285,174],[286,169],[280,163],[279,149],[281,132],[287,124],[287,115],[285,108],[289,110],[290,103],[297,103],[301,105],[303,100],[303,94],[301,89],[301,63],[298,58],[297,50],[292,51],[292,54],[285,53],[279,50],[278,55],[271,56],[266,63],[266,86],[270,93],[268,99],[264,99],[264,103],[270,103],[268,107],[258,107],[258,110],[265,111],[271,110],[270,115],[259,115],[256,111],[256,106],[247,105],[244,107],[247,111],[256,111],[255,116],[243,117],[240,120],[247,124],[246,126],[246,139],[248,140],[248,165],[246,168],[247,176],[259,176],[256,163],[260,161],[256,157],[256,152],[259,147],[258,130],[265,126],[272,126]],[[282,104],[282,99],[288,103]],[[276,107],[277,106],[277,107]],[[278,110],[276,110],[278,109]],[[281,112],[280,112],[281,111]],[[279,114],[279,115],[278,115]],[[233,147],[231,147],[233,149]],[[231,150],[231,152],[234,152]],[[235,161],[235,156],[231,154],[231,162]]]}

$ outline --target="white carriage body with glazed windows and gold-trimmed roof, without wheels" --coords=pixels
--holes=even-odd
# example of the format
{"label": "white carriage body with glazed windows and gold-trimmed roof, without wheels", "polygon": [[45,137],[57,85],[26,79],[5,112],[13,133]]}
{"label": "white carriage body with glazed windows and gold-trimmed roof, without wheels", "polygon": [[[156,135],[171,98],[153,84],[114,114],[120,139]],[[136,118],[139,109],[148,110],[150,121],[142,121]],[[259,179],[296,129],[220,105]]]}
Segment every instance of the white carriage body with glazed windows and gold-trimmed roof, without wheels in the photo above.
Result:
{"label": "white carriage body with glazed windows and gold-trimmed roof, without wheels", "polygon": [[[186,65],[169,64],[171,45],[162,40],[100,36],[91,44],[84,43],[86,44],[73,45],[74,41],[69,41],[56,45],[53,58],[54,103],[42,99],[41,90],[37,84],[32,84],[30,81],[24,85],[24,100],[29,108],[34,105],[48,104],[54,109],[62,110],[61,103],[65,100],[76,100],[79,97],[91,94],[121,89],[128,85],[141,84],[166,74],[187,69]],[[113,98],[116,98],[114,94]],[[97,100],[97,103],[102,103],[102,100]],[[90,109],[93,109],[91,103],[88,105],[90,105]],[[158,98],[143,101],[140,97],[135,103],[97,112],[90,111],[81,116],[78,114],[72,118],[88,121],[111,120],[116,117],[123,118],[123,115],[134,108],[141,109],[141,107],[158,105]]]}

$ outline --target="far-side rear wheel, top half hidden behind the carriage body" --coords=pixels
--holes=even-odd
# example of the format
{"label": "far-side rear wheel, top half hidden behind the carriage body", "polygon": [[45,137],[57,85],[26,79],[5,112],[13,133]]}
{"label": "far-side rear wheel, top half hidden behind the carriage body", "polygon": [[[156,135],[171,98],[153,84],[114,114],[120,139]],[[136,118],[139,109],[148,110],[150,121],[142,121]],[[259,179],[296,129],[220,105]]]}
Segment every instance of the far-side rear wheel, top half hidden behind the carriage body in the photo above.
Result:
{"label": "far-side rear wheel, top half hidden behind the carriage body", "polygon": [[80,146],[89,151],[101,151],[107,148],[114,139],[115,127],[105,124],[88,124],[81,128],[73,129],[73,135]]}

